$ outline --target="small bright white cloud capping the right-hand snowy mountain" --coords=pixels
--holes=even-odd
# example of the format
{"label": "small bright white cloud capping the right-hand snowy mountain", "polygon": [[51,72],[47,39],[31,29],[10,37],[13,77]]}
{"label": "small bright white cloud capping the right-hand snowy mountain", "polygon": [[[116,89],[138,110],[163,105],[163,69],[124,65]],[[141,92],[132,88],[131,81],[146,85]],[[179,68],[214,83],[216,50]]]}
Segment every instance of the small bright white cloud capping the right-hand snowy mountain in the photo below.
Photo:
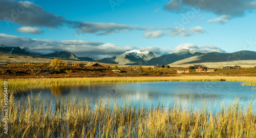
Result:
{"label": "small bright white cloud capping the right-hand snowy mountain", "polygon": [[193,43],[184,43],[184,44],[180,44],[179,46],[173,48],[171,51],[174,52],[180,48],[191,48],[197,51],[202,51],[202,52],[221,52],[221,53],[225,53],[226,51],[217,47],[217,46],[213,46],[213,45],[201,45],[201,46],[197,46]]}

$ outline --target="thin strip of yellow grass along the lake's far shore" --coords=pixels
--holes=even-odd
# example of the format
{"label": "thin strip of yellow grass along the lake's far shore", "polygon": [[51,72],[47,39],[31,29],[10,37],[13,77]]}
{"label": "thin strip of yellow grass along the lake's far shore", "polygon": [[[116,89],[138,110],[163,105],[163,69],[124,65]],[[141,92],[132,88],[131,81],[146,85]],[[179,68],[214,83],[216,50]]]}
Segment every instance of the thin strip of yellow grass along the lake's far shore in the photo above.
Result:
{"label": "thin strip of yellow grass along the lake's far shore", "polygon": [[[2,82],[4,79],[0,79]],[[7,79],[12,90],[34,87],[50,87],[52,85],[94,84],[94,83],[129,83],[153,81],[254,81],[256,77],[232,76],[170,76],[170,77],[98,77],[98,78],[29,78]],[[1,89],[4,83],[0,84]]]}

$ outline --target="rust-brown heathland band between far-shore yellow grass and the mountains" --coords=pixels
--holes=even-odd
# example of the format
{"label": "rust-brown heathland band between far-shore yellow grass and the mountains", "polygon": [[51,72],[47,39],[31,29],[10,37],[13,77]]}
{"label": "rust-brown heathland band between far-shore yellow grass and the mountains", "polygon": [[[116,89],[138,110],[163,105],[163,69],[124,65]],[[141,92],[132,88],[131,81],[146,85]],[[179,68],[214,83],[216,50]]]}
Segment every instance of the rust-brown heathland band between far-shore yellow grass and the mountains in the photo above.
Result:
{"label": "rust-brown heathland band between far-shore yellow grass and the mountains", "polygon": [[[70,77],[132,77],[132,76],[182,76],[182,75],[206,75],[206,76],[256,76],[256,68],[226,69],[217,68],[214,72],[195,72],[190,69],[187,74],[177,74],[179,67],[150,68],[140,66],[119,66],[120,73],[114,73],[114,66],[90,67],[71,62],[67,65],[51,67],[48,64],[11,64],[0,65],[1,78],[70,78]],[[73,66],[73,65],[74,66]],[[75,65],[76,64],[76,65]],[[185,67],[188,68],[188,67]]]}

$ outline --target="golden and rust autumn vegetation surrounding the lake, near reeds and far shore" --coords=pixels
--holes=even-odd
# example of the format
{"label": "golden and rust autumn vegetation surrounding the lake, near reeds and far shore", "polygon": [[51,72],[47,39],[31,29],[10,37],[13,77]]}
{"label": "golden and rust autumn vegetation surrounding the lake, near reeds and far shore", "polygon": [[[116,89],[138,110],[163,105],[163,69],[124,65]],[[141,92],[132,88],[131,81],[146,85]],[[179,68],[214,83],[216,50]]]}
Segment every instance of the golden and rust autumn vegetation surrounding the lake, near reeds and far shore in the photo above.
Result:
{"label": "golden and rust autumn vegetation surrounding the lake, near reeds and far shore", "polygon": [[[87,85],[94,83],[131,83],[151,81],[243,81],[256,86],[254,68],[177,74],[177,68],[88,67],[54,59],[48,64],[0,66],[1,81],[8,81],[9,114],[7,137],[255,137],[255,101],[244,106],[239,99],[221,109],[193,105],[186,108],[173,103],[146,105],[98,102],[88,99],[48,99],[40,95],[16,101],[13,94],[28,88],[53,85]],[[118,69],[122,73],[114,73]],[[3,90],[3,83],[0,90]],[[53,88],[54,89],[54,88]],[[4,94],[0,93],[3,103]],[[3,108],[3,104],[0,104]],[[0,110],[0,115],[3,110]],[[1,118],[1,124],[3,123]],[[3,130],[3,125],[0,126]],[[4,137],[3,133],[0,137]]]}

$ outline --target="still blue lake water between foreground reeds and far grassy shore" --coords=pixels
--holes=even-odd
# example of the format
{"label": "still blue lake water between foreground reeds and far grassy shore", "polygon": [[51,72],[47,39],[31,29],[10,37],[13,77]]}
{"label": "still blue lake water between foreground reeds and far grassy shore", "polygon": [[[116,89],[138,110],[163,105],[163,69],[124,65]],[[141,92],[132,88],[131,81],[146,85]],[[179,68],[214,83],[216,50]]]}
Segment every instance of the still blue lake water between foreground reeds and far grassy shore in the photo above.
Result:
{"label": "still blue lake water between foreground reeds and far grassy shore", "polygon": [[66,85],[52,86],[44,89],[30,89],[17,94],[16,100],[24,100],[33,93],[37,96],[41,92],[41,99],[55,98],[87,98],[92,103],[99,99],[131,103],[145,103],[164,105],[174,102],[182,105],[195,105],[200,107],[204,101],[211,106],[220,108],[221,104],[232,104],[236,97],[240,98],[243,105],[253,99],[255,105],[256,91],[254,87],[242,86],[242,82],[234,81],[164,81],[142,82],[129,84],[91,84],[91,85]]}

